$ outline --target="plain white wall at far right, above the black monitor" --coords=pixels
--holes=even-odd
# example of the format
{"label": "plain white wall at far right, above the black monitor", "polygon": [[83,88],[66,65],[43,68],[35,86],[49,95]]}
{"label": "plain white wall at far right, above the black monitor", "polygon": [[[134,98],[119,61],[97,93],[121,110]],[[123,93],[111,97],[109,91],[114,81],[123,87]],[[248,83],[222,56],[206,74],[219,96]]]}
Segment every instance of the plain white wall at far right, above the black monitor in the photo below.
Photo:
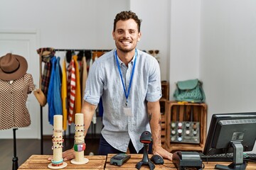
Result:
{"label": "plain white wall at far right, above the black monitor", "polygon": [[213,113],[256,111],[255,9],[253,0],[202,1],[200,77],[208,125]]}

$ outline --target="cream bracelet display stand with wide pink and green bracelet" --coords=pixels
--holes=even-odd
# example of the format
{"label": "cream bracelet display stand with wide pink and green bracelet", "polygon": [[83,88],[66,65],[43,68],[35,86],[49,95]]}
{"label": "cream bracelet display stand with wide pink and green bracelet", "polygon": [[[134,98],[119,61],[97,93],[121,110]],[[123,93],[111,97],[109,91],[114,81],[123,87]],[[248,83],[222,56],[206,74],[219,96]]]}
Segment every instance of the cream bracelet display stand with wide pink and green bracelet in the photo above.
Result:
{"label": "cream bracelet display stand with wide pink and green bracelet", "polygon": [[75,159],[71,160],[72,164],[86,164],[89,159],[85,158],[85,125],[82,113],[75,113]]}

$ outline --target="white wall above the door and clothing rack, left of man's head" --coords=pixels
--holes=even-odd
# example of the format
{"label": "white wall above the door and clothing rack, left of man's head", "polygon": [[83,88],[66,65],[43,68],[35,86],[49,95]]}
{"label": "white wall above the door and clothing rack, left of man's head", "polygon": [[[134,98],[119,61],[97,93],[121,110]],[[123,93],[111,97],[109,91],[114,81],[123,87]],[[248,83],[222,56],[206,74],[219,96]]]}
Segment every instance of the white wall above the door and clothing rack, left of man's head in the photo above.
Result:
{"label": "white wall above the door and clothing rack, left of man's head", "polygon": [[118,0],[2,0],[1,29],[38,29],[41,47],[111,49],[117,12],[129,9]]}

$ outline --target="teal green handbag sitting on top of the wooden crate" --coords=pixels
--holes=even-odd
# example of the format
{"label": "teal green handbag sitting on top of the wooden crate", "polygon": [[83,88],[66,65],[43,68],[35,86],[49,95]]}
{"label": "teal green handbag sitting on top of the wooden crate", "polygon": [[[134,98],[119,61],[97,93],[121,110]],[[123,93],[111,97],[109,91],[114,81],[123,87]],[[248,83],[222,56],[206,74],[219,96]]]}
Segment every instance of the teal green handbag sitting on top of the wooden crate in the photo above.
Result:
{"label": "teal green handbag sitting on top of the wooden crate", "polygon": [[198,79],[178,81],[176,83],[176,90],[174,91],[175,100],[203,103],[206,100],[206,95],[204,94],[202,84]]}

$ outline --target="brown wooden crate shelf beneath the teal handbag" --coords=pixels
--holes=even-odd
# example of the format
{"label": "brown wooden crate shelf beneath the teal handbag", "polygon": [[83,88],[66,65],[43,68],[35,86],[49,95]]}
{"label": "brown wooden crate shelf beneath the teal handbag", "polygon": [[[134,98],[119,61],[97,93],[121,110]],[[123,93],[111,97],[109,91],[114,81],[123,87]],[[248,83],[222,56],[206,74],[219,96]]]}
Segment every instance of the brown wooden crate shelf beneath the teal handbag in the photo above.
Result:
{"label": "brown wooden crate shelf beneath the teal handbag", "polygon": [[[193,121],[200,123],[199,144],[171,142],[171,121],[190,121],[191,108],[193,108]],[[184,111],[186,113],[184,113]],[[203,152],[203,148],[206,144],[207,130],[206,103],[178,103],[176,101],[166,101],[166,115],[166,149],[169,152],[175,152],[177,150]]]}

